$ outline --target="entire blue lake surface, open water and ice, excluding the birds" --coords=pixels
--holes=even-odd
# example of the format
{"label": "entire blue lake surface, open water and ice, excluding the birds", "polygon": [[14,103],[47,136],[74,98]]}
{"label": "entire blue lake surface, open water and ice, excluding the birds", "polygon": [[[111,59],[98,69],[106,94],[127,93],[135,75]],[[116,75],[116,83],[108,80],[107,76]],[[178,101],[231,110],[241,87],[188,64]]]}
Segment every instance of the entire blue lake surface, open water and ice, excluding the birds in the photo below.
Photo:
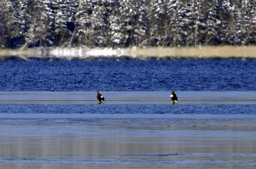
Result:
{"label": "entire blue lake surface, open water and ice, excluding the birds", "polygon": [[1,61],[0,167],[255,168],[255,68],[221,58]]}

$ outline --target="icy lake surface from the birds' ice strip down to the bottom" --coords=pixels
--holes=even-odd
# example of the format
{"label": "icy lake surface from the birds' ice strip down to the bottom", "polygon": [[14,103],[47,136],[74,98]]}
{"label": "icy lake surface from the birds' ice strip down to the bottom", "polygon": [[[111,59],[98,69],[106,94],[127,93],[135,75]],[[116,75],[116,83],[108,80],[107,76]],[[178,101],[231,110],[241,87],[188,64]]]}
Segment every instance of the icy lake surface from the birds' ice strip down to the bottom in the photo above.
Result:
{"label": "icy lake surface from the birds' ice strip down to the bottom", "polygon": [[255,168],[256,92],[0,92],[0,168]]}

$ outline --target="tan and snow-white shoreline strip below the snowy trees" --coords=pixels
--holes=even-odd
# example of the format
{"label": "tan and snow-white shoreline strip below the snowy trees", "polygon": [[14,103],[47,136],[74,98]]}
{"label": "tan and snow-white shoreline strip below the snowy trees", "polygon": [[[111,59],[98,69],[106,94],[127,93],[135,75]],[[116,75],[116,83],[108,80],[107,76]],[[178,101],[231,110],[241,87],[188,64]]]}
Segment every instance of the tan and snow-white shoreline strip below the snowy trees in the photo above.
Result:
{"label": "tan and snow-white shoreline strip below the snowy trees", "polygon": [[88,57],[172,57],[172,58],[256,58],[256,46],[207,46],[168,48],[35,48],[0,49],[0,59],[8,57],[36,58],[88,58]]}

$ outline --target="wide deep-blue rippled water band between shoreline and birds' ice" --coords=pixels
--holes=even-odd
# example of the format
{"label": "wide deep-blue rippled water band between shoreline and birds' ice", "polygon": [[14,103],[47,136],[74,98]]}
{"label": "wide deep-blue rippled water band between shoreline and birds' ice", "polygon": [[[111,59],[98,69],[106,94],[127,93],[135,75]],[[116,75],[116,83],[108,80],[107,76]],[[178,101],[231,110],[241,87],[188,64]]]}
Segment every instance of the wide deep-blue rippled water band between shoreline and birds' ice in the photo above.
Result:
{"label": "wide deep-blue rippled water band between shoreline and birds' ice", "polygon": [[0,91],[255,91],[256,60],[0,62]]}

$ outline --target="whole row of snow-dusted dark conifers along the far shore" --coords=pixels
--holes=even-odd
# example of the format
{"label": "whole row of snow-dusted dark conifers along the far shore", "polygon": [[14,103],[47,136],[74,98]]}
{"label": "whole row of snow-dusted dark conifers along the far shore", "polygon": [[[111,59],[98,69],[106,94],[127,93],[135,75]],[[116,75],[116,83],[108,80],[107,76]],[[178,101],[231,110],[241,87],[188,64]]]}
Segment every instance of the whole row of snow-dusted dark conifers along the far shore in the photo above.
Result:
{"label": "whole row of snow-dusted dark conifers along the far shore", "polygon": [[254,0],[1,0],[0,47],[253,45]]}

